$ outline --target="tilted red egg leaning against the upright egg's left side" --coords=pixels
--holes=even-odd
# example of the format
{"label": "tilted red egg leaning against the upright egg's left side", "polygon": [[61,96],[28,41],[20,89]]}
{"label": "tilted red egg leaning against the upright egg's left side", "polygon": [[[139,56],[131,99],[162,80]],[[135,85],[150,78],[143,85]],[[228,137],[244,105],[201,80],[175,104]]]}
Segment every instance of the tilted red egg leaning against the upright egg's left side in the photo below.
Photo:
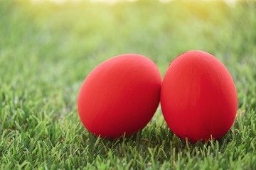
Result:
{"label": "tilted red egg leaning against the upright egg's left side", "polygon": [[159,106],[161,74],[142,55],[119,55],[92,70],[78,95],[85,128],[101,137],[131,135],[149,123]]}

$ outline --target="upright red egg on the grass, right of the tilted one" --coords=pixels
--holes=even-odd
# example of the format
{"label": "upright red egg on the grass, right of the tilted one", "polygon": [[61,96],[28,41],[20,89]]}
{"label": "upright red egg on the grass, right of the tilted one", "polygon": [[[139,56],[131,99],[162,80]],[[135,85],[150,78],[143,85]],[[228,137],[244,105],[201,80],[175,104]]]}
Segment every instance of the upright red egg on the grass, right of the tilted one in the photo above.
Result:
{"label": "upright red egg on the grass, right of the tilted one", "polygon": [[213,55],[189,51],[169,65],[161,86],[161,109],[181,139],[218,140],[233,125],[237,108],[233,79]]}

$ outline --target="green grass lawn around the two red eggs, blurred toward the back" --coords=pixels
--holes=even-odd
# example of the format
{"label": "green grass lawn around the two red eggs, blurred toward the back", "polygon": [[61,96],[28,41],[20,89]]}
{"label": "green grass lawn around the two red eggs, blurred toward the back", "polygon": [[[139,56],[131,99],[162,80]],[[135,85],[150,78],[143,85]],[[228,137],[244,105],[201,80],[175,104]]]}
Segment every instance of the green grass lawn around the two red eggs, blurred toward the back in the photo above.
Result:
{"label": "green grass lawn around the two red eggs, blurred toward the back", "polygon": [[[235,81],[238,114],[220,140],[181,141],[160,108],[127,138],[80,123],[78,91],[97,64],[137,53],[164,77],[188,50],[215,55]],[[256,169],[255,67],[255,2],[0,1],[0,169]]]}

